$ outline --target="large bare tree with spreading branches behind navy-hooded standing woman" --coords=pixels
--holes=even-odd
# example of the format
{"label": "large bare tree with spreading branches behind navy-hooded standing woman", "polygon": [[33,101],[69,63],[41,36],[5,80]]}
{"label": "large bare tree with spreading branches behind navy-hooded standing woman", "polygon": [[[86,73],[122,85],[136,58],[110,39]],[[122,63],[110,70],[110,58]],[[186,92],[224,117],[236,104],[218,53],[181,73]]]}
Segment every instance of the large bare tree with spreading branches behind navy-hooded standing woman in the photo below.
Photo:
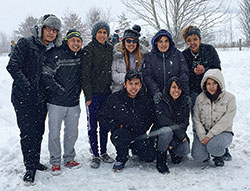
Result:
{"label": "large bare tree with spreading branches behind navy-hooded standing woman", "polygon": [[201,30],[226,17],[231,1],[226,0],[122,0],[131,13],[155,30],[166,28],[177,47],[183,45],[181,31],[190,24]]}

